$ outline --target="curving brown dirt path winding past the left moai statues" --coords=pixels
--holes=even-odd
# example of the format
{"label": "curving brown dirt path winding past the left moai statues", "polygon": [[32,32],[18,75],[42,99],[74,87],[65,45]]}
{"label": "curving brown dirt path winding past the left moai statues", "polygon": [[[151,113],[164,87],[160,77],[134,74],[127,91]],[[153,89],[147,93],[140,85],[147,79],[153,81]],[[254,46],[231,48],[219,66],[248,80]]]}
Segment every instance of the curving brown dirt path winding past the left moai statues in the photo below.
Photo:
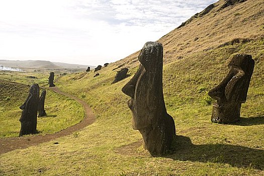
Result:
{"label": "curving brown dirt path winding past the left moai statues", "polygon": [[71,127],[68,127],[60,132],[54,133],[54,134],[46,134],[46,135],[34,135],[34,136],[26,136],[26,137],[8,137],[8,138],[0,138],[0,154],[7,153],[9,151],[19,149],[19,148],[27,148],[32,145],[38,145],[43,142],[48,142],[50,140],[56,139],[58,137],[66,136],[71,134],[74,131],[80,130],[88,125],[91,125],[95,122],[95,114],[93,113],[93,110],[82,100],[79,98],[76,98],[72,95],[69,95],[67,93],[61,92],[58,87],[49,87],[50,90],[67,96],[71,99],[74,99],[75,101],[79,102],[84,110],[85,110],[85,117],[84,119]]}

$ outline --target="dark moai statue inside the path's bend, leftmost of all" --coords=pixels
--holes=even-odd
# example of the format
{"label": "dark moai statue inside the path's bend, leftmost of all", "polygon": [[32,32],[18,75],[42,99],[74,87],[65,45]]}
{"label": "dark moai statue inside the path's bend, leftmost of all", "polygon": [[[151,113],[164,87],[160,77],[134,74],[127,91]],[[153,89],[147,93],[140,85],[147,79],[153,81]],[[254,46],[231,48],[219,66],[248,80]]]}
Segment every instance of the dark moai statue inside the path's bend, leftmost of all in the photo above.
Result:
{"label": "dark moai statue inside the path's bend, leftmost of all", "polygon": [[27,100],[19,108],[22,109],[20,118],[21,129],[19,136],[37,133],[37,113],[39,104],[39,85],[33,84],[29,89]]}

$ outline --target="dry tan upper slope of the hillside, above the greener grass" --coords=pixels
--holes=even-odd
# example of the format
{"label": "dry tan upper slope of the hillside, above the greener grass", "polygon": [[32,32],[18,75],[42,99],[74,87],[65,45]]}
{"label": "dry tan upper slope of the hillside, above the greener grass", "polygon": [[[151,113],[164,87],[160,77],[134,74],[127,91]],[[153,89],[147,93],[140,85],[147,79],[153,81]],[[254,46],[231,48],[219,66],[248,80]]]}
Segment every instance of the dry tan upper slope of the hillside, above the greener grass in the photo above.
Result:
{"label": "dry tan upper slope of the hillside, above the greener grass", "polygon": [[[243,42],[264,37],[262,0],[249,0],[222,9],[226,2],[230,0],[220,0],[208,13],[200,17],[198,15],[190,23],[160,38],[158,41],[164,47],[164,63],[183,59],[195,52],[214,49],[228,42]],[[139,51],[116,64],[138,64],[138,54]]]}

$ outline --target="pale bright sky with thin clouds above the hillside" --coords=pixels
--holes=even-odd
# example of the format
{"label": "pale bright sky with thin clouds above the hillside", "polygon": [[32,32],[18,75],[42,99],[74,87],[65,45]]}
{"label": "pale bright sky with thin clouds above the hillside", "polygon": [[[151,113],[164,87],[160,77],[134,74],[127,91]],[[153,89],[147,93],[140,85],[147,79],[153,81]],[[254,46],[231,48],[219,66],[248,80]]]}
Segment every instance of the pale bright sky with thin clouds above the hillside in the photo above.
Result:
{"label": "pale bright sky with thin clouds above the hillside", "polygon": [[0,59],[99,65],[156,41],[216,0],[1,0]]}

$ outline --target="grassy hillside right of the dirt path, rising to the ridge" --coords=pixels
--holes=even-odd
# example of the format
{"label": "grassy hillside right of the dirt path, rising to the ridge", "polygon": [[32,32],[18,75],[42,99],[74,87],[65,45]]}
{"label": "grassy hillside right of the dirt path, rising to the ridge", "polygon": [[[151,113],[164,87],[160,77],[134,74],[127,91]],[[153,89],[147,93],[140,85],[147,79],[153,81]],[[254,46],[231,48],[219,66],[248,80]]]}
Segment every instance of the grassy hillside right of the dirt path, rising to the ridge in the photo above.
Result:
{"label": "grassy hillside right of the dirt path, rising to the ridge", "polygon": [[[248,0],[218,11],[223,3],[159,40],[164,46],[164,99],[177,133],[168,155],[151,157],[141,134],[131,128],[129,97],[121,89],[138,68],[134,54],[103,68],[97,77],[94,72],[60,77],[56,85],[91,105],[97,121],[57,139],[59,145],[51,141],[1,155],[0,174],[264,175],[263,3]],[[232,42],[238,37],[253,40]],[[226,76],[238,53],[255,60],[241,120],[211,123],[214,101],[207,92]],[[128,67],[131,76],[111,84],[117,67]]]}

